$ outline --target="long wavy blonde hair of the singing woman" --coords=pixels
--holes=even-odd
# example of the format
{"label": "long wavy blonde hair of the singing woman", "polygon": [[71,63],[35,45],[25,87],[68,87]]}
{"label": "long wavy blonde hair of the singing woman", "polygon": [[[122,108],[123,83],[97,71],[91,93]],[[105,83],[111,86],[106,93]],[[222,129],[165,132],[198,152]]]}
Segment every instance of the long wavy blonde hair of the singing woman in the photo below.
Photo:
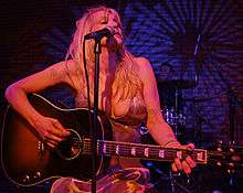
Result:
{"label": "long wavy blonde hair of the singing woman", "polygon": [[[104,11],[104,15],[107,15],[109,12],[114,12],[119,20],[118,13],[106,7],[97,7],[88,9],[87,12],[76,22],[76,31],[73,35],[72,43],[68,47],[66,60],[74,60],[78,65],[80,75],[85,83],[84,71],[82,71],[81,64],[83,64],[83,42],[84,36],[87,33],[92,32],[93,28],[93,14]],[[124,35],[123,35],[124,36]],[[119,99],[133,98],[136,93],[141,87],[141,82],[138,77],[138,66],[136,65],[135,56],[129,53],[125,45],[119,49],[117,52],[118,56],[118,67],[116,69],[115,79],[113,84],[116,84],[116,90],[113,95],[117,93],[122,93]],[[85,45],[85,57],[92,62],[94,62],[94,42],[88,41]],[[87,71],[91,71],[94,66],[87,65]]]}

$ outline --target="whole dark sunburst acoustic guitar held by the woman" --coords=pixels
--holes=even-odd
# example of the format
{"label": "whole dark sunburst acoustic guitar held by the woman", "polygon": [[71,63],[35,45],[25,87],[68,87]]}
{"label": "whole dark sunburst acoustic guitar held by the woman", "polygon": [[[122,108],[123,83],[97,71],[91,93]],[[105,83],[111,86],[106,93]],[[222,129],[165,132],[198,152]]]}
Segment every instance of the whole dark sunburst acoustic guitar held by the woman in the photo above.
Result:
{"label": "whole dark sunburst acoustic guitar held by the woman", "polygon": [[[88,182],[92,178],[88,109],[63,109],[38,94],[30,95],[29,100],[40,114],[57,119],[71,136],[56,150],[49,149],[34,128],[9,106],[1,133],[1,164],[8,179],[19,186],[32,186],[61,176]],[[98,112],[97,124],[97,176],[108,167],[110,157],[172,162],[175,158],[191,156],[198,164],[214,163],[229,169],[242,165],[242,151],[232,148],[226,151],[220,148],[189,151],[113,141],[112,126],[105,114]]]}

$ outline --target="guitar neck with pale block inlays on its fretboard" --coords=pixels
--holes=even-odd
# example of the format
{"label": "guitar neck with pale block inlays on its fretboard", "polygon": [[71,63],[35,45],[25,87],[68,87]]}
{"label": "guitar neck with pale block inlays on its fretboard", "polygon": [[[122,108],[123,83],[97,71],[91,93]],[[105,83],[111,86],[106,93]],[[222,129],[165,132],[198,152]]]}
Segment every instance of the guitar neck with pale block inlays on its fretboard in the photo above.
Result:
{"label": "guitar neck with pale block inlays on its fretboard", "polygon": [[[83,153],[91,153],[91,139],[84,139]],[[208,151],[203,149],[190,151],[151,144],[97,140],[97,151],[98,154],[105,157],[139,158],[166,162],[172,162],[176,158],[184,159],[187,156],[190,156],[196,163],[207,164],[208,162]]]}

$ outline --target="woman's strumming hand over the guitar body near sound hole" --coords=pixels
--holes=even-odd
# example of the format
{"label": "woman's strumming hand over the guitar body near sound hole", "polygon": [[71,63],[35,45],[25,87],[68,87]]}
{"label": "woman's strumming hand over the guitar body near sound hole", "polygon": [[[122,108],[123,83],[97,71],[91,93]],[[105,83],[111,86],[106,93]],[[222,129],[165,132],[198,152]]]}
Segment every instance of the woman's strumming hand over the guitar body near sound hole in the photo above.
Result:
{"label": "woman's strumming hand over the guitar body near sound hole", "polygon": [[34,121],[34,128],[40,138],[52,149],[55,149],[70,135],[57,119],[50,117],[36,119]]}

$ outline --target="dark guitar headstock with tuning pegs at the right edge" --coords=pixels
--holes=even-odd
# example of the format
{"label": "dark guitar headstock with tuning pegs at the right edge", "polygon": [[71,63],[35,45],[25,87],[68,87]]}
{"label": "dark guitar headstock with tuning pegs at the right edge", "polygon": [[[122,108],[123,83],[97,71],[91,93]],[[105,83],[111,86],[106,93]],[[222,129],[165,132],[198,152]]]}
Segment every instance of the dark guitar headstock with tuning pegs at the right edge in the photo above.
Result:
{"label": "dark guitar headstock with tuning pegs at the right edge", "polygon": [[243,147],[239,147],[234,141],[219,141],[214,150],[208,151],[208,163],[234,173],[243,168]]}

